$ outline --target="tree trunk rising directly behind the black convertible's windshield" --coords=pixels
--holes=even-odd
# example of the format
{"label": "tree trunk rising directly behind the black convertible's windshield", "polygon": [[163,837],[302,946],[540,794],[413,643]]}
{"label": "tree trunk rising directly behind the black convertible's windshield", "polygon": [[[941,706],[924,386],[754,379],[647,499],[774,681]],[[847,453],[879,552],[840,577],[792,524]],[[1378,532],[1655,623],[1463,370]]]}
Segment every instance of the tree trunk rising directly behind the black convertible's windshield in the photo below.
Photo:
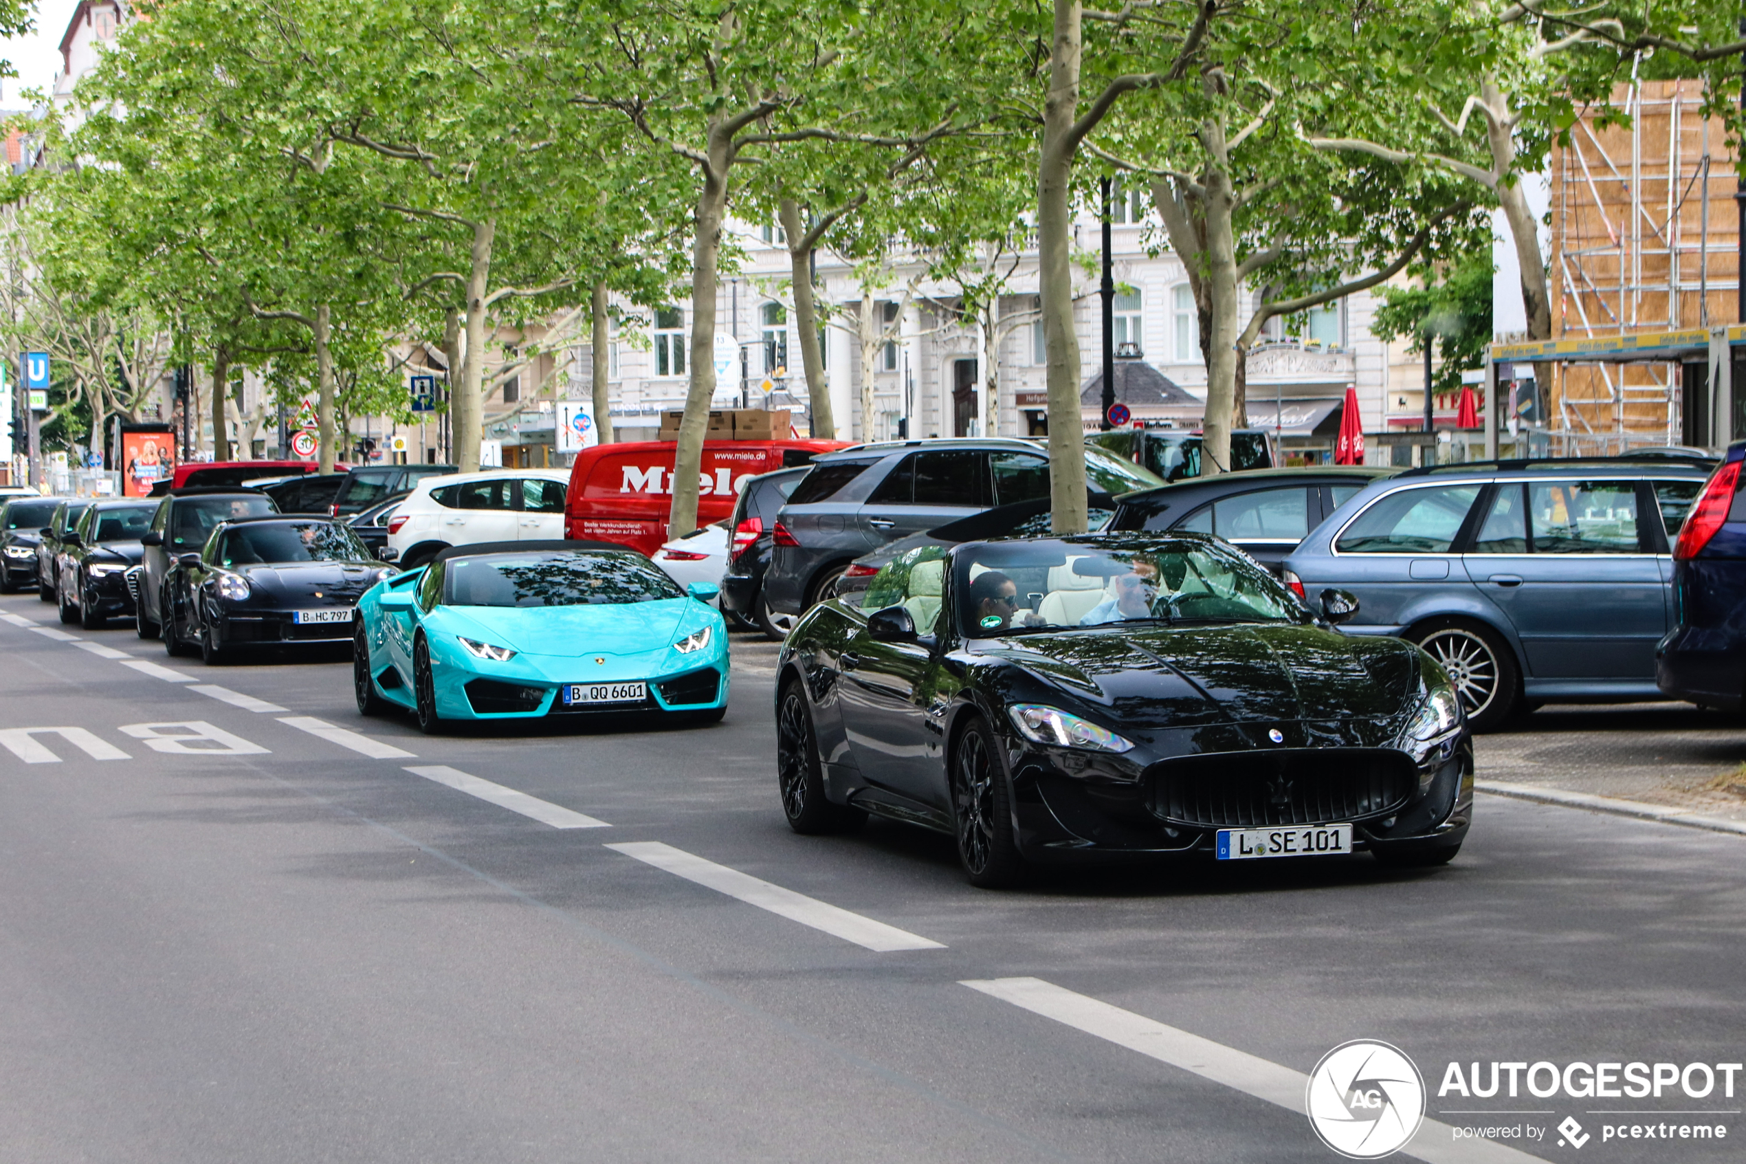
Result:
{"label": "tree trunk rising directly behind the black convertible's windshield", "polygon": [[1037,283],[1049,386],[1049,508],[1056,534],[1086,531],[1086,447],[1079,417],[1079,335],[1074,332],[1070,140],[1079,112],[1079,0],[1055,0],[1049,94],[1037,162]]}

